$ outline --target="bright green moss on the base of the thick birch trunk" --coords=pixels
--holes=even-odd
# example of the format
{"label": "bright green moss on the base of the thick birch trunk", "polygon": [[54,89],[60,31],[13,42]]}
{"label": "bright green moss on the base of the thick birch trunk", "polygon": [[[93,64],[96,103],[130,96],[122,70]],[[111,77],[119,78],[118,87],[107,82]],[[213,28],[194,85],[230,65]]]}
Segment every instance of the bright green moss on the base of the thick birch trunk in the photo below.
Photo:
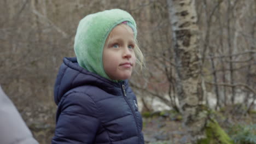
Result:
{"label": "bright green moss on the base of the thick birch trunk", "polygon": [[206,139],[202,139],[198,144],[233,144],[228,134],[219,126],[216,121],[210,121],[206,127]]}

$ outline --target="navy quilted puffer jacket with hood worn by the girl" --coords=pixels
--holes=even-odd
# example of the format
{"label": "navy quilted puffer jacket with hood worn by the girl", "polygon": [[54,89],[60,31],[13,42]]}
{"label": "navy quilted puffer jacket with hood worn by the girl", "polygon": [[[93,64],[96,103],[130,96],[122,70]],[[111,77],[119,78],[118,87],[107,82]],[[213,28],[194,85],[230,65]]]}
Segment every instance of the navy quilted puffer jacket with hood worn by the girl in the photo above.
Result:
{"label": "navy quilted puffer jacket with hood worn by the girl", "polygon": [[90,73],[64,58],[55,83],[58,105],[52,143],[144,143],[142,117],[127,80]]}

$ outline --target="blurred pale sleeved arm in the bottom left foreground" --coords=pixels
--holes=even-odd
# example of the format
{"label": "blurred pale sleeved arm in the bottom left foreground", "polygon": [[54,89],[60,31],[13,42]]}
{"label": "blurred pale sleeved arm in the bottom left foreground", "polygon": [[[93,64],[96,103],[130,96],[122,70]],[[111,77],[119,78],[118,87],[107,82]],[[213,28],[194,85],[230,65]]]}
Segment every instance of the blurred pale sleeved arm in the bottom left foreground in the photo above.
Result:
{"label": "blurred pale sleeved arm in the bottom left foreground", "polygon": [[38,142],[0,86],[0,143],[30,144]]}

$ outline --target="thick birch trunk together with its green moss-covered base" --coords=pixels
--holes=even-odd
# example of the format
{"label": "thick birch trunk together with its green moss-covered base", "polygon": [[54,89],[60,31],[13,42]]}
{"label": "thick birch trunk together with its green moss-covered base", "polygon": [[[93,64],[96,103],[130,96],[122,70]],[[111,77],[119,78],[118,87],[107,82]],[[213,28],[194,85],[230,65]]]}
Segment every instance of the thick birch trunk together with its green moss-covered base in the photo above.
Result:
{"label": "thick birch trunk together with its green moss-covered base", "polygon": [[[216,140],[229,143],[229,136],[214,119],[209,118],[210,112],[199,101],[202,95],[200,87],[202,79],[200,73],[200,35],[195,1],[167,0],[167,4],[173,31],[176,88],[181,104],[183,125],[188,130],[187,135],[190,139],[183,143],[216,143]],[[222,141],[223,139],[225,141]]]}

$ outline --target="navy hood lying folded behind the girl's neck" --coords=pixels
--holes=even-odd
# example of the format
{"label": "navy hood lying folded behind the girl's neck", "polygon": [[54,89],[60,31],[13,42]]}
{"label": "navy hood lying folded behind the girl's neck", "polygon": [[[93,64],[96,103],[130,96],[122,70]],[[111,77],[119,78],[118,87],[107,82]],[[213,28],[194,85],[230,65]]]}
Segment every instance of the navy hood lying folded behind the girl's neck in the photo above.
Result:
{"label": "navy hood lying folded behind the girl's neck", "polygon": [[127,87],[127,80],[122,82],[113,82],[80,67],[76,57],[65,57],[63,58],[63,63],[60,66],[59,74],[57,75],[55,82],[54,100],[58,105],[66,92],[79,86],[96,86],[103,89],[103,91],[111,93],[112,91],[117,91],[117,88],[113,87],[120,88],[123,84]]}

